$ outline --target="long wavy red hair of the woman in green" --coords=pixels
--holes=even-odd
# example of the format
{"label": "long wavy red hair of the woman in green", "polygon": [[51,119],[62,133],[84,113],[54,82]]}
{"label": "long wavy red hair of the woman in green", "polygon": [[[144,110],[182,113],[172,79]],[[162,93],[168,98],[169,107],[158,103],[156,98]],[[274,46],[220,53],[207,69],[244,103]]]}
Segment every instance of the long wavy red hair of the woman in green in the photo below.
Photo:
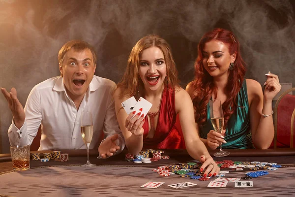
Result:
{"label": "long wavy red hair of the woman in green", "polygon": [[194,88],[193,99],[195,108],[195,121],[199,125],[204,125],[207,121],[207,103],[212,97],[213,92],[217,93],[216,87],[213,84],[213,77],[209,75],[203,66],[202,52],[207,42],[211,40],[222,41],[228,46],[229,53],[232,55],[236,52],[236,60],[234,62],[234,69],[230,70],[228,82],[226,85],[227,100],[222,104],[224,114],[224,128],[226,128],[228,120],[237,109],[236,97],[241,89],[244,80],[246,68],[244,61],[240,56],[240,46],[235,35],[221,28],[216,28],[213,31],[205,33],[201,38],[198,46],[198,58],[195,62],[195,80],[192,83]]}

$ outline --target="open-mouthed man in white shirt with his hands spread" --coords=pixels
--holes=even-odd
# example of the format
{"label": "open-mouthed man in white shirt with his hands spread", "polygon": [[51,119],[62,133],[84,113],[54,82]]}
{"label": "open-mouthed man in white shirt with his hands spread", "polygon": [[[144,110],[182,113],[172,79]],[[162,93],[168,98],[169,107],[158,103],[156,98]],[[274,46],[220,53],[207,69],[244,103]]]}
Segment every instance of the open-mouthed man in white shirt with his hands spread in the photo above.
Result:
{"label": "open-mouthed man in white shirt with his hands spread", "polygon": [[15,88],[1,91],[12,111],[8,129],[11,145],[31,144],[41,125],[39,150],[85,149],[81,136],[81,113],[91,111],[93,137],[90,149],[97,147],[103,131],[106,139],[98,151],[102,158],[112,156],[125,146],[115,113],[113,91],[116,84],[94,75],[95,52],[87,42],[71,40],[59,50],[61,76],[36,85],[25,109]]}

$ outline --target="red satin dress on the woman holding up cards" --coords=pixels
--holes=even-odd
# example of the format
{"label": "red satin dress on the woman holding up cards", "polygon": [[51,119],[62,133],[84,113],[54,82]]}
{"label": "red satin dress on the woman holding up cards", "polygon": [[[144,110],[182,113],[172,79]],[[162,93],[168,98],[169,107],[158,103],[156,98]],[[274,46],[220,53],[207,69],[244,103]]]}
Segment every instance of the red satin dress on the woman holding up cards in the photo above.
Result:
{"label": "red satin dress on the woman holding up cards", "polygon": [[177,114],[175,111],[175,91],[171,88],[163,90],[159,121],[153,138],[147,138],[149,126],[148,116],[144,129],[144,148],[153,149],[181,149],[185,148],[182,132],[178,131],[175,123]]}

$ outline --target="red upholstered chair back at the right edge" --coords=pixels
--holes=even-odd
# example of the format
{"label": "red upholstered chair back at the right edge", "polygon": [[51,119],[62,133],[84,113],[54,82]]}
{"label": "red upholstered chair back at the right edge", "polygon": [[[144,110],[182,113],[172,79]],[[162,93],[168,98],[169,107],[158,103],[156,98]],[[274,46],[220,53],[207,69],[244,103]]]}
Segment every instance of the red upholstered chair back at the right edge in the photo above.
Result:
{"label": "red upholstered chair back at the right edge", "polygon": [[291,88],[276,101],[274,109],[274,148],[294,147],[295,135],[295,91]]}

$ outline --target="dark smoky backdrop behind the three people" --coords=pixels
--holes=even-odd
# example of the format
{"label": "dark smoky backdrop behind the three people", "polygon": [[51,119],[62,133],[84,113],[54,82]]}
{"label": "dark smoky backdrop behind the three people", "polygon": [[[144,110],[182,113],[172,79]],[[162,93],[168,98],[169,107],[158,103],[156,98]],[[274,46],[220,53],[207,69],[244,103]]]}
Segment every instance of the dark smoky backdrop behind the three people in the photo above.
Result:
{"label": "dark smoky backdrop behind the three people", "polygon": [[[92,44],[95,74],[118,83],[132,46],[156,33],[185,88],[201,36],[216,27],[236,34],[247,78],[263,84],[270,70],[295,84],[294,9],[294,0],[0,0],[0,87],[15,87],[25,105],[34,85],[59,75],[58,51],[71,39]],[[0,95],[0,153],[9,152],[11,120]]]}

